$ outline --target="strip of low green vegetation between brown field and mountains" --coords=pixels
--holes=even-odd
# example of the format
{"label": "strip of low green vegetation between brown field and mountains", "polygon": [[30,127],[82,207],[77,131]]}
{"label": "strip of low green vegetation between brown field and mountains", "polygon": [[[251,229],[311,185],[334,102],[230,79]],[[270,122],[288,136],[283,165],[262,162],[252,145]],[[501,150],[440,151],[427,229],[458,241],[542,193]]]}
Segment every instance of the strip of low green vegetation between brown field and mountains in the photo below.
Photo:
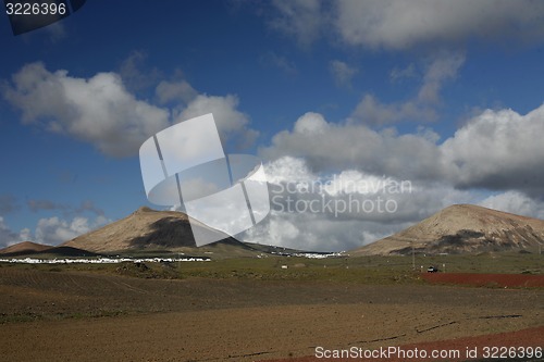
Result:
{"label": "strip of low green vegetation between brown field and mountains", "polygon": [[[159,254],[153,253],[153,257]],[[416,267],[413,267],[413,265]],[[411,257],[358,257],[307,259],[296,257],[233,258],[207,262],[161,262],[120,264],[11,264],[0,267],[45,271],[113,273],[140,278],[219,278],[259,280],[314,280],[367,284],[420,283],[429,266],[441,273],[543,274],[544,255],[485,253]]]}

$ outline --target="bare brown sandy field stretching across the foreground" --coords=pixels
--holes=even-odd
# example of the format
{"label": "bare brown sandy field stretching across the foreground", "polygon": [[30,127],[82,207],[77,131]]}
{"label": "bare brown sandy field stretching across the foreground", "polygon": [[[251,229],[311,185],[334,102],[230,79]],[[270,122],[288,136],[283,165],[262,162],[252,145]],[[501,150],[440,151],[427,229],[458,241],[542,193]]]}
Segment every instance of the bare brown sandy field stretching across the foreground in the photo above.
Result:
{"label": "bare brown sandy field stretching across the foreground", "polygon": [[[151,280],[11,267],[0,269],[0,305],[2,361],[254,361],[441,340],[466,349],[474,336],[544,326],[543,289]],[[519,346],[544,346],[542,328],[532,330],[533,339],[517,337]]]}

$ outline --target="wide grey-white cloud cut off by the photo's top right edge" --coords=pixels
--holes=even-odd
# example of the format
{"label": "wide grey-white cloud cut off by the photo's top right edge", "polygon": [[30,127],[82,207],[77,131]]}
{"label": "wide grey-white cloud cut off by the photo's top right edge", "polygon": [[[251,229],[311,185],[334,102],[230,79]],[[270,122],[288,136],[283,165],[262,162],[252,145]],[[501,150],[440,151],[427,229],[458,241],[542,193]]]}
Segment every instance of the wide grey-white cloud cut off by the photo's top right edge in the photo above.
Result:
{"label": "wide grey-white cloud cut off by the photo's top right edge", "polygon": [[343,0],[335,4],[334,26],[351,46],[408,49],[471,38],[541,41],[544,34],[540,1]]}

